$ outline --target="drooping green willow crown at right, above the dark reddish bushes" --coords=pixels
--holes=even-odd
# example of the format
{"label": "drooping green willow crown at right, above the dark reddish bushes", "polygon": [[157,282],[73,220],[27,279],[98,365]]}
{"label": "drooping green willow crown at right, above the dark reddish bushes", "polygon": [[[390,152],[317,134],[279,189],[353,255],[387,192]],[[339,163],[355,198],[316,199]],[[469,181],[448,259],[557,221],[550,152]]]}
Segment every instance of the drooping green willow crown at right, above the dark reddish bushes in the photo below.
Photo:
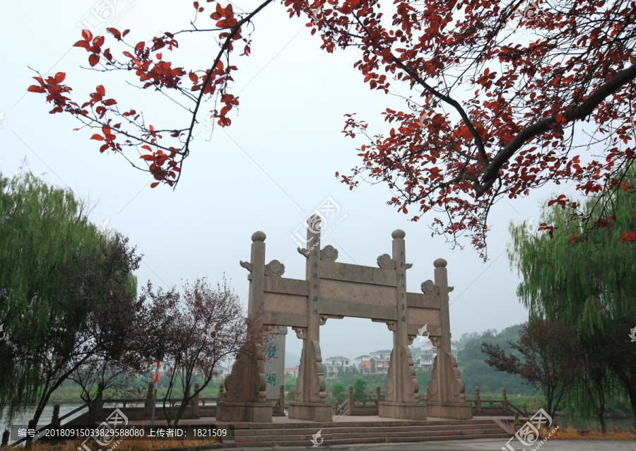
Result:
{"label": "drooping green willow crown at right, above the dark reddish bushes", "polygon": [[[634,185],[634,170],[629,178],[628,185]],[[589,213],[597,203],[616,206],[613,227],[587,233],[585,224],[570,221],[570,213],[558,204],[545,205],[541,211],[542,223],[560,225],[553,238],[510,224],[508,257],[522,276],[517,294],[529,309],[531,320],[574,322],[581,332],[591,334],[594,328],[612,327],[617,318],[636,315],[635,245],[619,242],[623,233],[636,229],[632,219],[636,194],[633,189],[618,189],[606,197],[593,197],[584,202],[583,213]],[[606,220],[597,216],[593,222]],[[570,242],[579,235],[585,235],[586,240]]]}

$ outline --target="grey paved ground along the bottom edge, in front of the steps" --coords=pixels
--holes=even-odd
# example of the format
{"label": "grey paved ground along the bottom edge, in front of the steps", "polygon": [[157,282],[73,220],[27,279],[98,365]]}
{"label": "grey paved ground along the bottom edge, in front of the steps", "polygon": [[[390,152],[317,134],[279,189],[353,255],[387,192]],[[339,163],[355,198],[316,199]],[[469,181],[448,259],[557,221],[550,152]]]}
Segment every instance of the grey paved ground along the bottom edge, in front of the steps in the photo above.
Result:
{"label": "grey paved ground along the bottom edge, in front of the steps", "polygon": [[[236,447],[237,451],[265,451],[265,450],[360,450],[360,451],[384,451],[384,450],[440,450],[440,451],[501,451],[507,440],[448,440],[443,442],[424,443],[388,443],[375,445],[321,445],[317,447]],[[511,442],[512,449],[522,451],[521,443]],[[535,445],[536,447],[536,445]],[[505,448],[504,448],[505,449]],[[531,451],[534,447],[526,447]],[[636,441],[632,440],[548,440],[538,448],[541,451],[635,451]]]}

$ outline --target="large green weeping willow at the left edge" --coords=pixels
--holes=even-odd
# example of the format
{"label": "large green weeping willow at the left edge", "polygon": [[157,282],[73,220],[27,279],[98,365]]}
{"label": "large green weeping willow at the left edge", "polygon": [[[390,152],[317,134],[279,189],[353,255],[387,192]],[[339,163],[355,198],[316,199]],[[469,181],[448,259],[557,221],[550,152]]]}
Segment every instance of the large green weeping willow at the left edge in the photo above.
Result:
{"label": "large green weeping willow at the left edge", "polygon": [[99,351],[130,338],[141,306],[127,238],[104,235],[86,204],[30,172],[0,174],[0,415],[35,408]]}

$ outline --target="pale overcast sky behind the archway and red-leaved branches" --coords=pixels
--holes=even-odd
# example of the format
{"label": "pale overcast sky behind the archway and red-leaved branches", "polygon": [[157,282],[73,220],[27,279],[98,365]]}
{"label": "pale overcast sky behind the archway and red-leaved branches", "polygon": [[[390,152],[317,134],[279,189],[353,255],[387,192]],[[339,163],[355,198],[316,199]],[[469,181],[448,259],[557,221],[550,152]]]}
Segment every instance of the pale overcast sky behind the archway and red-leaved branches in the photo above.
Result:
{"label": "pale overcast sky behind the archway and red-leaved branches", "polygon": [[[391,232],[401,228],[406,231],[407,261],[413,263],[407,288],[417,293],[421,282],[433,279],[432,262],[447,259],[449,285],[455,287],[450,296],[455,338],[527,320],[515,294],[519,277],[505,254],[508,225],[534,218],[536,227],[539,202],[566,187],[546,187],[526,199],[496,204],[485,263],[468,240],[463,250],[452,250],[444,238],[431,237],[429,216],[412,223],[411,216],[387,206],[387,186],[363,184],[351,192],[334,174],[348,174],[359,165],[355,148],[365,143],[343,136],[343,115],[356,112],[358,119],[370,122],[370,130],[382,131],[380,113],[387,107],[405,110],[405,102],[363,83],[353,68],[358,59],[354,49],[324,52],[319,36],[305,28],[306,20],[290,19],[281,4],[273,4],[257,16],[252,55],[232,63],[239,68],[232,92],[240,93],[240,110],[230,115],[232,126],[211,136],[204,117],[199,118],[201,133],[177,189],[151,189],[147,173],[131,168],[121,156],[100,154],[100,144],[89,140],[92,131],[73,131],[78,122],[72,117],[49,115],[44,95],[27,93],[35,76],[28,66],[47,75],[64,71],[73,98],[86,99],[103,84],[122,110],[143,111],[146,123],[155,128],[182,127],[182,110],[160,95],[127,88],[123,74],[80,69],[88,66],[88,54],[72,47],[81,39],[78,23],[98,3],[3,2],[0,170],[14,175],[26,158],[28,168],[47,182],[90,199],[93,221],[107,219],[143,254],[140,285],[150,279],[167,287],[201,276],[216,282],[225,274],[247,308],[248,273],[239,261],[249,260],[252,233],[267,235],[266,262],[278,259],[285,264],[285,277],[304,279],[305,258],[290,235],[331,197],[341,209],[339,216],[346,218],[323,246],[340,251],[338,262],[376,266],[380,254],[391,253]],[[245,10],[256,4],[236,3]],[[193,12],[192,1],[119,0],[117,25],[130,28],[135,41],[148,40],[162,31],[187,28]],[[204,69],[216,54],[213,42],[201,42],[201,37],[179,38],[179,45],[174,60],[188,68]],[[396,90],[408,92],[404,85]],[[329,320],[320,334],[324,357],[354,358],[392,346],[387,327],[370,320]],[[300,348],[290,331],[287,350],[300,355]]]}

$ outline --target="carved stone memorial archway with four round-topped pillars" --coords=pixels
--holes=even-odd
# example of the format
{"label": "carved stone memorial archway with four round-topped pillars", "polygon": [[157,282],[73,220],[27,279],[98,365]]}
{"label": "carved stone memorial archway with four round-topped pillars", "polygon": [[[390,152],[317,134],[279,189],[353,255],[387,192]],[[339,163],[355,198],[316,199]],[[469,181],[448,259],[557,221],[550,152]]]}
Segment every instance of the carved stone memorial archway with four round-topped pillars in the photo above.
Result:
{"label": "carved stone memorial archway with four round-topped pillars", "polygon": [[[320,219],[310,223],[320,230]],[[315,225],[317,224],[317,225]],[[249,271],[249,319],[259,315],[261,324],[289,326],[302,339],[302,355],[296,380],[296,401],[290,402],[289,417],[309,421],[332,421],[331,405],[325,402],[319,328],[329,318],[346,316],[384,322],[393,332],[393,351],[386,399],[379,416],[423,420],[472,418],[471,404],[464,397],[464,382],[451,352],[447,262],[437,259],[435,281],[422,283],[423,293],[406,291],[405,233],[395,230],[391,255],[377,257],[377,266],[338,263],[338,250],[320,248],[319,231],[307,228],[308,249],[298,249],[306,259],[305,280],[285,279],[285,266],[272,260],[265,264],[265,234],[252,235],[252,258],[240,262]],[[429,338],[437,356],[428,385],[428,401],[420,402],[419,385],[408,345],[418,328],[428,324]],[[266,402],[264,360],[242,356],[225,379],[223,402],[218,402],[219,421],[271,421]]]}

